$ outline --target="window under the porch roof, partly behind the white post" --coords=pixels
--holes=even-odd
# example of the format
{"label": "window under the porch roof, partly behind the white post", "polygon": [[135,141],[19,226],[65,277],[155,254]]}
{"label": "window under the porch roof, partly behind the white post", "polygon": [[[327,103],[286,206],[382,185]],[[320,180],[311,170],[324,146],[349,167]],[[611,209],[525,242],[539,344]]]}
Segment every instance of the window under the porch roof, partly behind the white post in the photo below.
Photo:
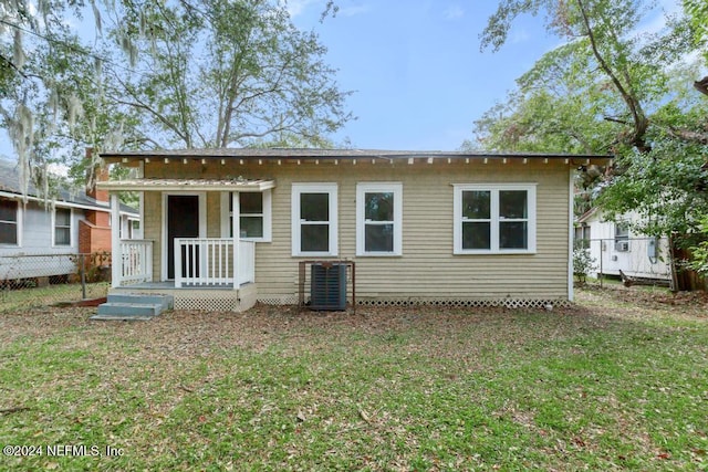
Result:
{"label": "window under the porch roof, partly behind the white post", "polygon": [[[221,233],[233,238],[233,193],[223,193],[221,208],[228,208],[228,218]],[[228,202],[226,201],[228,199]],[[239,228],[241,239],[257,242],[271,241],[271,191],[239,193]]]}

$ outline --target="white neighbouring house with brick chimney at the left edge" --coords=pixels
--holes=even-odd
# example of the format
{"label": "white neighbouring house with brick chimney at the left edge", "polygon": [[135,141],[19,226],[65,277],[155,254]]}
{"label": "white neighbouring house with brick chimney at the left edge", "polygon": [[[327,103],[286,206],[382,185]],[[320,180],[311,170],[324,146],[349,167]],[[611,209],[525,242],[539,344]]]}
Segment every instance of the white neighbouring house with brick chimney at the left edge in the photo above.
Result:
{"label": "white neighbouring house with brick chimney at the left edge", "polygon": [[[122,237],[129,239],[139,213],[122,204],[119,221]],[[44,199],[29,185],[22,195],[18,164],[0,159],[0,281],[73,273],[75,254],[98,251],[111,251],[105,190],[74,195],[61,189],[56,198]]]}

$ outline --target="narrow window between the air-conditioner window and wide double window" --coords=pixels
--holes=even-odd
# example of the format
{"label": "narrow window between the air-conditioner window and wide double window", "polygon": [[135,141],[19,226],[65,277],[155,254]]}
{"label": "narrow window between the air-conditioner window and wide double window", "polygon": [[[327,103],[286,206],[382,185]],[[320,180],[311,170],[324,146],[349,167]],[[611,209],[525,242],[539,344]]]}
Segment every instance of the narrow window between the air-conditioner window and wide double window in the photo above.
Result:
{"label": "narrow window between the air-conditioner window and wide double window", "polygon": [[372,182],[356,186],[356,254],[400,255],[403,186]]}

